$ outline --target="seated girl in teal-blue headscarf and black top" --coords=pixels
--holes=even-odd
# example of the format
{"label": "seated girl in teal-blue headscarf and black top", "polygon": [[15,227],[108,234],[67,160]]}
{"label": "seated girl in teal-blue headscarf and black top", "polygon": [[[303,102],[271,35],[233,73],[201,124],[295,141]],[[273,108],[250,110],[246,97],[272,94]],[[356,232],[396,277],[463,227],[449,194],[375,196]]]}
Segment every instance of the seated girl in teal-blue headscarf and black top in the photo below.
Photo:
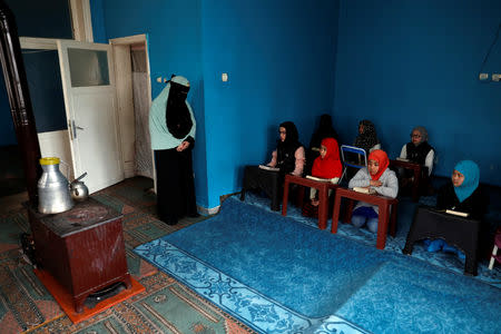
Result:
{"label": "seated girl in teal-blue headscarf and black top", "polygon": [[[465,213],[473,219],[483,220],[488,207],[488,199],[481,191],[479,183],[479,166],[472,160],[459,161],[452,171],[452,183],[448,183],[439,189],[436,208]],[[482,237],[484,237],[484,230],[481,230]],[[462,252],[448,245],[443,239],[425,239],[424,244],[429,252],[442,249],[444,252],[455,253],[461,258],[464,258]]]}

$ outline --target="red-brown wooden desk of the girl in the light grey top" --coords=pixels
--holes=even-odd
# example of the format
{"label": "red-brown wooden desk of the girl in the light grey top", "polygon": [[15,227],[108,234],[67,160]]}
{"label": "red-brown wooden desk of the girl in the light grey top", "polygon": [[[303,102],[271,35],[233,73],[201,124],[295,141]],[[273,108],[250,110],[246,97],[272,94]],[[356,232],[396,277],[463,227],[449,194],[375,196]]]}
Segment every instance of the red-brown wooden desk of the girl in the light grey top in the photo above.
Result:
{"label": "red-brown wooden desk of the girl in the light grey top", "polygon": [[[377,205],[379,206],[379,222],[377,222],[377,242],[376,242],[376,248],[377,249],[384,249],[384,246],[386,245],[386,233],[387,233],[387,226],[390,223],[390,230],[392,236],[395,235],[396,229],[396,206],[399,204],[399,200],[396,198],[390,198],[381,195],[370,195],[370,194],[363,194],[357,193],[351,189],[345,188],[337,188],[336,189],[336,197],[334,202],[334,213],[332,217],[332,233],[337,233],[337,224],[340,220],[340,208],[341,208],[341,198],[345,197],[353,200],[362,200],[369,204]],[[389,216],[390,213],[390,206],[392,206],[391,210],[391,217]]]}

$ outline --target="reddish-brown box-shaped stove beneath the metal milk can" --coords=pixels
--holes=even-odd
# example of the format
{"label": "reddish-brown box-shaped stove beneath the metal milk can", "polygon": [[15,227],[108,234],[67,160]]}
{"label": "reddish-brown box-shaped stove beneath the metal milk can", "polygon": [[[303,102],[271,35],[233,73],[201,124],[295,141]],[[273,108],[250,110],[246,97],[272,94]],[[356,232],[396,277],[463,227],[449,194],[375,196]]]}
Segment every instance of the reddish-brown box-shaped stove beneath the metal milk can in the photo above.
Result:
{"label": "reddish-brown box-shaped stove beneath the metal milk can", "polygon": [[121,214],[94,198],[56,215],[27,208],[37,264],[72,296],[77,313],[91,293],[117,282],[131,287]]}

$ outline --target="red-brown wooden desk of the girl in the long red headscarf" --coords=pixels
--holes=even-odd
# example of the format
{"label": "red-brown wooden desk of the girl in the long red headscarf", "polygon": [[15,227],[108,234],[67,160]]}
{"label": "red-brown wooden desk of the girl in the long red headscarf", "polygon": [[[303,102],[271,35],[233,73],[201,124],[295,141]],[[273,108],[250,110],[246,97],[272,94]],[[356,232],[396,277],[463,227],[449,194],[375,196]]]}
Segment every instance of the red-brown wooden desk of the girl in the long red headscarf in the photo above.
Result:
{"label": "red-brown wooden desk of the girl in the long red headscarf", "polygon": [[336,189],[338,185],[332,183],[317,181],[305,177],[286,175],[284,181],[284,200],[282,203],[282,216],[287,215],[288,202],[288,185],[296,184],[304,187],[311,187],[318,190],[318,228],[325,229],[327,227],[327,212],[328,212],[328,189]]}

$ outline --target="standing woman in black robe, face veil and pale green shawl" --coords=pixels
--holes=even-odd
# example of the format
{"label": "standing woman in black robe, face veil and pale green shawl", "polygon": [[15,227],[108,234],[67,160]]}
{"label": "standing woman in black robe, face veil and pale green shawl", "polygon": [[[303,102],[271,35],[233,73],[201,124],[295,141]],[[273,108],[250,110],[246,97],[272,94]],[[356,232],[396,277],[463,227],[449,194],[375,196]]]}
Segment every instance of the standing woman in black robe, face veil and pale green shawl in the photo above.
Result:
{"label": "standing woman in black robe, face veil and pale green shawl", "polygon": [[186,100],[188,91],[189,81],[173,76],[149,111],[158,217],[168,225],[185,216],[198,216],[191,158],[196,122]]}

